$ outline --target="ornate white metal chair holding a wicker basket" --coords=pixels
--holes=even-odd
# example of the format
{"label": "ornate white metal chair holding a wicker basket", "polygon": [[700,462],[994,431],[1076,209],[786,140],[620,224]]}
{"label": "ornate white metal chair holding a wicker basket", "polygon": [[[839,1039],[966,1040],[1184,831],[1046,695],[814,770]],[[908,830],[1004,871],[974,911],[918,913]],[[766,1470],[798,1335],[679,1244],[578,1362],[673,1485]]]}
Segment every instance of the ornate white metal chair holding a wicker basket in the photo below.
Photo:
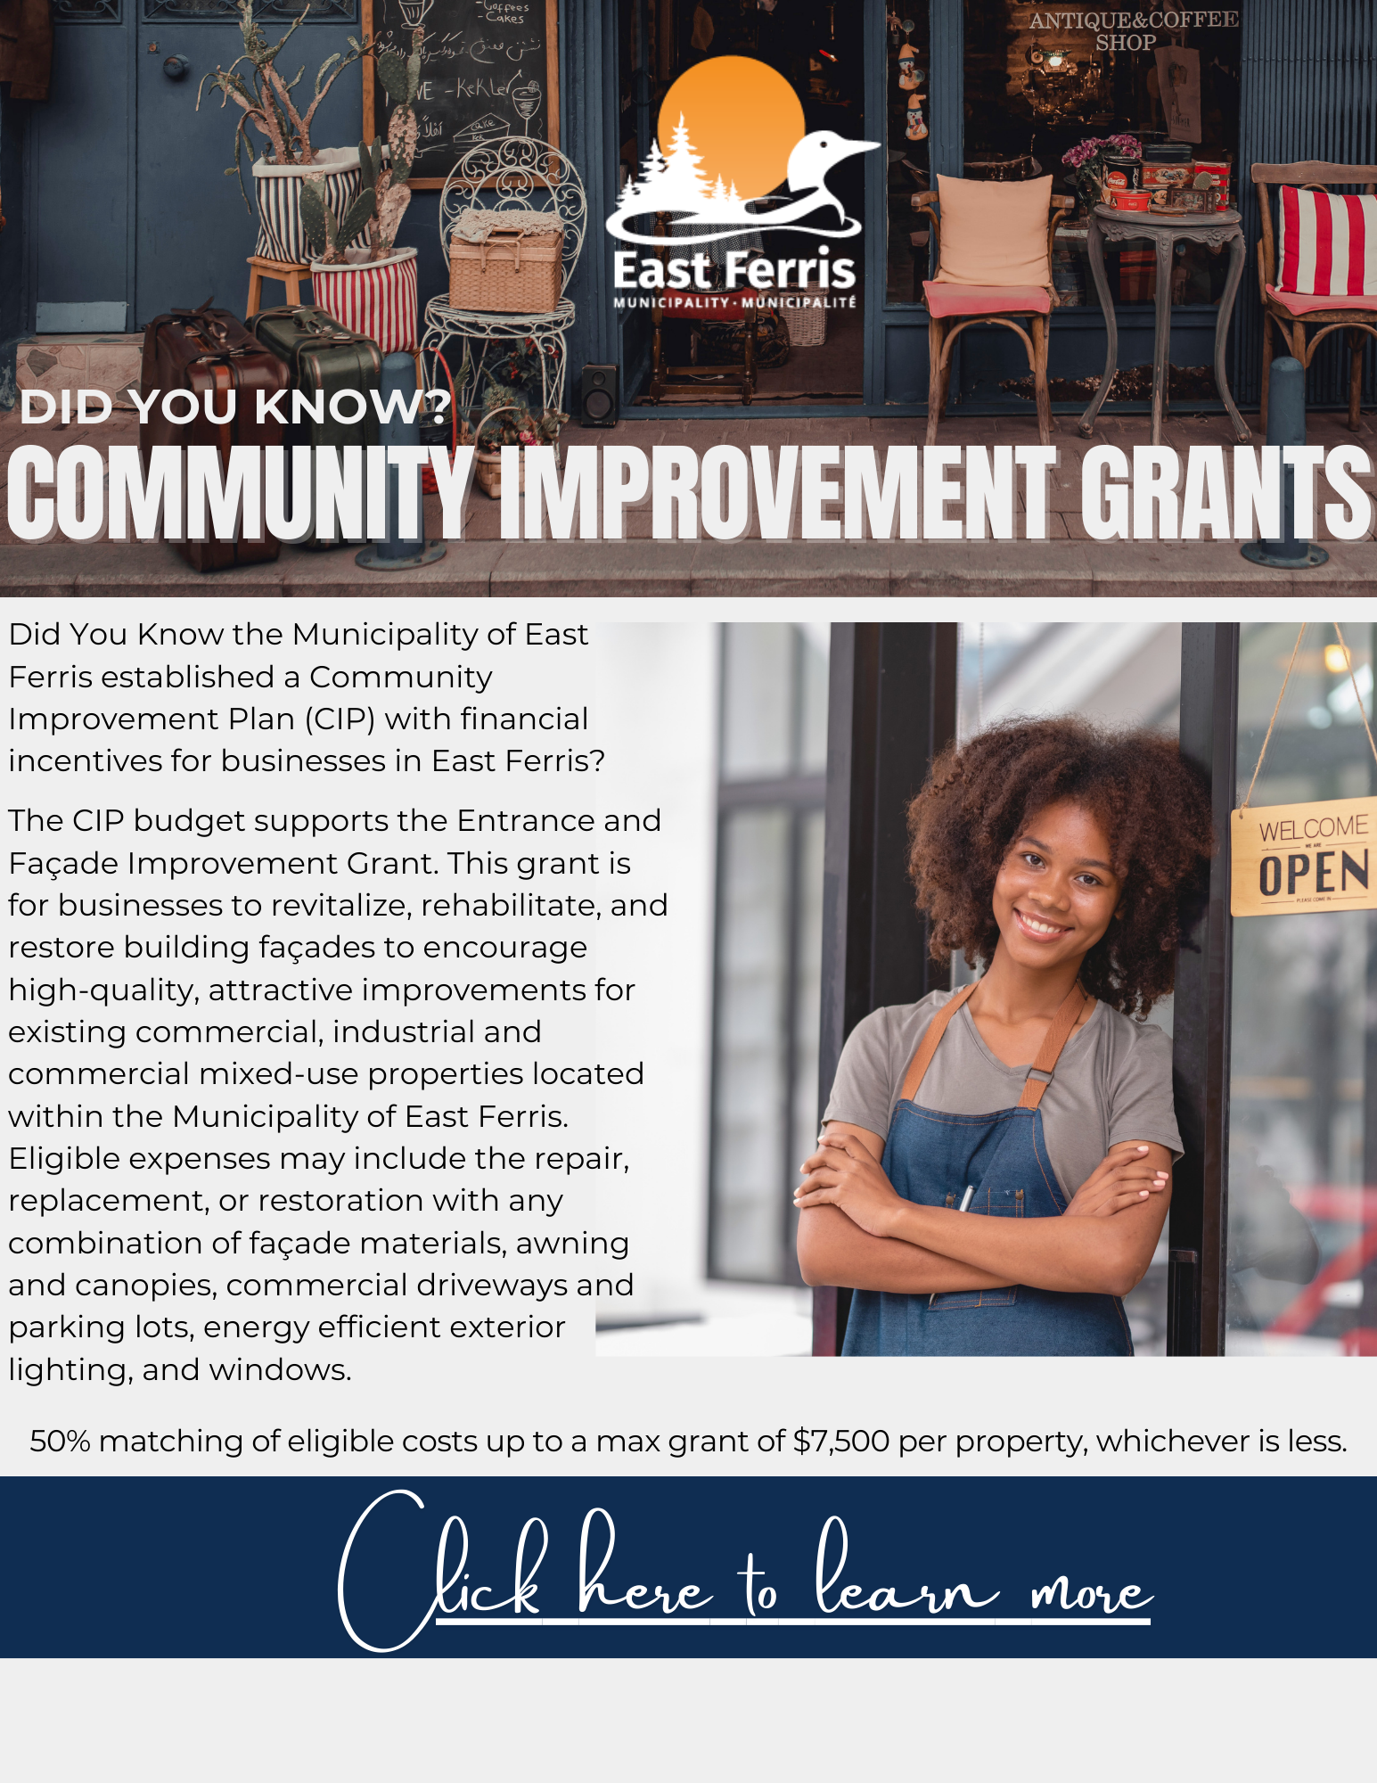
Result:
{"label": "ornate white metal chair holding a wicker basket", "polygon": [[[589,200],[573,160],[533,136],[494,136],[476,143],[449,169],[441,193],[441,251],[449,264],[449,232],[462,210],[548,210],[564,223],[562,291],[578,266],[589,223]],[[533,341],[540,351],[540,399],[546,410],[564,408],[565,335],[574,321],[573,298],[560,298],[546,316],[457,310],[442,298],[426,303],[423,351],[439,353],[449,341],[464,342],[455,376],[457,414],[478,399],[483,367],[494,348]]]}

